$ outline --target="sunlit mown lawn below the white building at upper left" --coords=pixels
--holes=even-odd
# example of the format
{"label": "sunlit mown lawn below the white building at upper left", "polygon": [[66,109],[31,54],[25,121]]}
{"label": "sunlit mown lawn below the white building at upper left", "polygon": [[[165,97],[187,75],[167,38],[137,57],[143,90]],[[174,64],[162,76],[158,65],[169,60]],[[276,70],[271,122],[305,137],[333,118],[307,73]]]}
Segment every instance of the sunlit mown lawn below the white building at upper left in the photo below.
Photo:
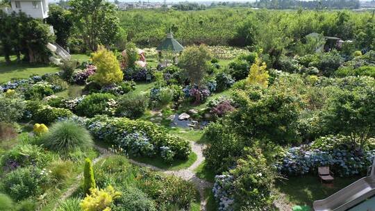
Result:
{"label": "sunlit mown lawn below the white building at upper left", "polygon": [[[88,60],[89,56],[84,54],[74,54],[72,59],[83,62]],[[5,62],[3,57],[0,57],[0,83],[10,81],[12,78],[28,78],[32,75],[43,75],[59,71],[59,68],[53,65],[32,65],[19,64],[15,62],[15,57],[11,58],[13,61],[10,64]]]}

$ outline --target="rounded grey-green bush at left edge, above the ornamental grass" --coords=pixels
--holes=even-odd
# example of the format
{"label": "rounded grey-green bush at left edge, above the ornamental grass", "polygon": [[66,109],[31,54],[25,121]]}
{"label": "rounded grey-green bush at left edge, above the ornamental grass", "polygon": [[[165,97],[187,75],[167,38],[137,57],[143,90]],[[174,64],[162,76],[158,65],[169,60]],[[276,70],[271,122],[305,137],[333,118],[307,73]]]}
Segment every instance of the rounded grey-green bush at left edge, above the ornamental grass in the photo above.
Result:
{"label": "rounded grey-green bush at left edge, above the ornamental grass", "polygon": [[17,121],[26,109],[24,101],[19,96],[7,97],[0,94],[0,121]]}

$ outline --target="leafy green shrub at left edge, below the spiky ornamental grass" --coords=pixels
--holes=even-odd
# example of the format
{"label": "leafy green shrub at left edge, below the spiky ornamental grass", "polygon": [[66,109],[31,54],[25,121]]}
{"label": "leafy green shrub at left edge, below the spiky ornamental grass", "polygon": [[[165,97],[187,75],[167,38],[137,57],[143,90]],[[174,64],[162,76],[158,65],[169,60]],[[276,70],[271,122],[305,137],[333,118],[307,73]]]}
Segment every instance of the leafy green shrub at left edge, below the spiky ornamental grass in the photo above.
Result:
{"label": "leafy green shrub at left edge, below the spiky ornamental grass", "polygon": [[53,160],[53,155],[44,151],[40,146],[19,144],[3,154],[1,166],[6,170],[30,165],[46,167],[51,160]]}

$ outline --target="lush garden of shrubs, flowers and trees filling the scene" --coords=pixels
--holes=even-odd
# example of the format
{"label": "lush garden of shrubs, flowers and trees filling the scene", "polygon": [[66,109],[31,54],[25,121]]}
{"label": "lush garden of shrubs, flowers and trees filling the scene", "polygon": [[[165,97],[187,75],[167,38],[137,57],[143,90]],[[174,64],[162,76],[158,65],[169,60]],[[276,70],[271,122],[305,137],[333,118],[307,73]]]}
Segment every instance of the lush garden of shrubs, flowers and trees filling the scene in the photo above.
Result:
{"label": "lush garden of shrubs, flowers and trees filling the scene", "polygon": [[[367,175],[375,157],[367,12],[125,16],[90,1],[106,11],[90,19],[81,1],[51,6],[47,19],[72,25],[54,37],[76,53],[69,60],[52,65],[44,57],[56,55],[42,47],[31,58],[19,40],[0,41],[0,210],[312,210]],[[297,27],[308,20],[315,24]],[[167,29],[185,45],[178,59],[155,48]],[[320,33],[353,42],[323,51]],[[333,182],[321,183],[319,167]]]}

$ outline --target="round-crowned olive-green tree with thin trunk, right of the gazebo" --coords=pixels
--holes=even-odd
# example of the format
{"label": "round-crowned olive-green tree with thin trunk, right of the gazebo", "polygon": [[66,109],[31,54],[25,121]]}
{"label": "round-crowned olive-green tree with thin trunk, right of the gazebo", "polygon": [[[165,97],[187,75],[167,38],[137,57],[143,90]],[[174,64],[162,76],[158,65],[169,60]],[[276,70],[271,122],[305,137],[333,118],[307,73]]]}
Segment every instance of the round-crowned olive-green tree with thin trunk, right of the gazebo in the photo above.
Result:
{"label": "round-crowned olive-green tree with thin trunk, right of the gazebo", "polygon": [[[197,85],[198,90],[201,88],[201,81],[206,75],[206,71],[210,68],[208,61],[211,60],[211,53],[206,46],[187,47],[178,62],[178,65],[185,69],[190,83]],[[196,95],[196,101],[200,101],[200,94]]]}

